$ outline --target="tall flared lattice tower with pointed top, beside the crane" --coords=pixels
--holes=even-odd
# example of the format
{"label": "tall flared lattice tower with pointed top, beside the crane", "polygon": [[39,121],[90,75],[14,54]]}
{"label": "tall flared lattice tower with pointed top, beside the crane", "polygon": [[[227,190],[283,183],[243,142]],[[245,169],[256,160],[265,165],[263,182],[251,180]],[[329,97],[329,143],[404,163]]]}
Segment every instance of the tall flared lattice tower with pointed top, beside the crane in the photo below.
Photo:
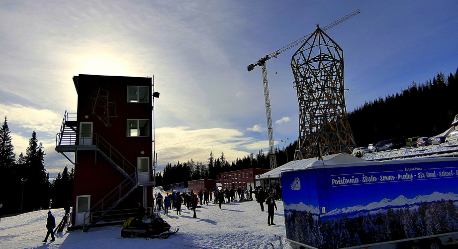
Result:
{"label": "tall flared lattice tower with pointed top, beside the crane", "polygon": [[318,27],[292,56],[291,69],[300,113],[294,159],[351,153],[356,145],[345,106],[342,48]]}

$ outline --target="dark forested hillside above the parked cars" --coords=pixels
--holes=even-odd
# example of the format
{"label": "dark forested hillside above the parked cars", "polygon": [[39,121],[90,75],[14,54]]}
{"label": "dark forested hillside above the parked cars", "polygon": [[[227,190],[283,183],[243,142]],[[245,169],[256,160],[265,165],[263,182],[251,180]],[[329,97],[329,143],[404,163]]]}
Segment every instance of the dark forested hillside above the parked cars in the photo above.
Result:
{"label": "dark forested hillside above the parked cars", "polygon": [[366,102],[348,115],[358,146],[415,136],[432,137],[448,128],[458,114],[458,69],[425,83],[412,84],[385,98]]}

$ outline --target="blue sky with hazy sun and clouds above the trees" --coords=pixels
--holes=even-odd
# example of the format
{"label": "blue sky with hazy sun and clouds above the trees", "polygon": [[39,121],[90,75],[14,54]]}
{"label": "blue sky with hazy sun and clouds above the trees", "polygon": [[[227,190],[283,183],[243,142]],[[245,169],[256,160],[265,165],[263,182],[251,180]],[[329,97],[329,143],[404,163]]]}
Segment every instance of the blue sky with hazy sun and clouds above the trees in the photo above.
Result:
{"label": "blue sky with hazy sun and clouds above the trees", "polygon": [[[247,66],[356,9],[326,31],[344,51],[349,112],[456,72],[456,0],[3,0],[1,121],[7,116],[17,155],[36,131],[52,178],[71,167],[54,149],[65,110],[77,111],[73,76],[154,77],[158,169],[206,163],[210,152],[229,161],[267,152],[262,72]],[[298,48],[267,62],[279,149],[299,135],[290,67]]]}

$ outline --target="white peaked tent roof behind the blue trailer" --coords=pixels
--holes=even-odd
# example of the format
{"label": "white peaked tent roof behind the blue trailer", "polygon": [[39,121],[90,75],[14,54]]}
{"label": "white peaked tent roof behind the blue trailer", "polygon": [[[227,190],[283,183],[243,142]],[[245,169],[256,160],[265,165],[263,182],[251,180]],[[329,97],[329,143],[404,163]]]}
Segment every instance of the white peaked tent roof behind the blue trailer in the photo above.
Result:
{"label": "white peaked tent roof behind the blue trailer", "polygon": [[[280,167],[277,167],[269,172],[266,172],[262,175],[260,175],[260,179],[267,179],[267,178],[279,178],[280,177],[280,172],[284,170],[295,170],[295,169],[305,169],[307,166],[315,161],[317,161],[318,158],[307,158],[307,159],[302,159],[302,160],[296,160],[296,161],[290,161],[288,163],[285,163],[281,165]],[[328,161],[329,164],[341,164],[341,163],[355,163],[355,162],[365,162],[366,160],[361,159],[356,156],[352,156],[347,153],[339,153],[339,154],[332,154],[332,155],[327,155],[323,157],[323,160]]]}

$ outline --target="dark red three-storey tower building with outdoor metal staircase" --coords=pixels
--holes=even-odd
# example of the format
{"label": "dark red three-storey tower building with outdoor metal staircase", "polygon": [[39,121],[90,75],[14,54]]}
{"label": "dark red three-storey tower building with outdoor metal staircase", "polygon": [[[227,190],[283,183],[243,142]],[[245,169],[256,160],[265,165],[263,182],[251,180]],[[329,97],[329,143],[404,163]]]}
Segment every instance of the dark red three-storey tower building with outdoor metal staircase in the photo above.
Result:
{"label": "dark red three-storey tower building with outdoor metal staircase", "polygon": [[56,151],[75,165],[71,223],[87,231],[138,202],[152,207],[159,93],[152,78],[80,74],[73,82],[78,109],[65,112]]}

